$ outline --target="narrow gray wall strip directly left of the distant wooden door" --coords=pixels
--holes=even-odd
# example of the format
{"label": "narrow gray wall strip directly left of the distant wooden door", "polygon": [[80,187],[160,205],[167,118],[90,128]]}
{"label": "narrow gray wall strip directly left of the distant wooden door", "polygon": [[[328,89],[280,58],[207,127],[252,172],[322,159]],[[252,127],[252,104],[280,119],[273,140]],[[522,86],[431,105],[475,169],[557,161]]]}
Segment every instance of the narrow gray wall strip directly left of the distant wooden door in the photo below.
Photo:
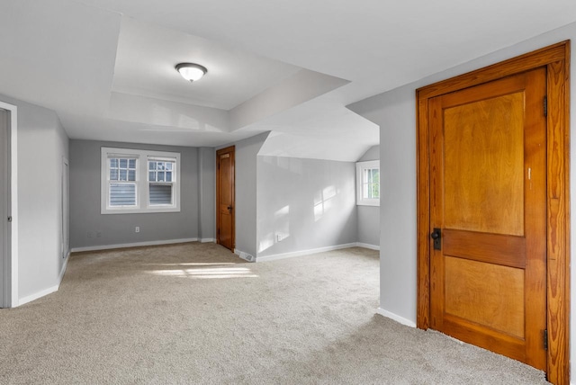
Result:
{"label": "narrow gray wall strip directly left of the distant wooden door", "polygon": [[198,237],[203,242],[216,239],[216,150],[198,148],[199,193]]}

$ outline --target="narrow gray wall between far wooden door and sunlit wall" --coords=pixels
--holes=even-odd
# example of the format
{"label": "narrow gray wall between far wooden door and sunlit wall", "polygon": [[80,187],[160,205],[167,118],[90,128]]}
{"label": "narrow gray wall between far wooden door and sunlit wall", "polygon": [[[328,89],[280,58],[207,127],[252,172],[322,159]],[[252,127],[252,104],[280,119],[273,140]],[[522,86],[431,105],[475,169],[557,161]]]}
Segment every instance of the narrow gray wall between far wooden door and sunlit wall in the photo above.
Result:
{"label": "narrow gray wall between far wooden door and sunlit wall", "polygon": [[[236,249],[257,255],[257,154],[269,132],[234,143],[236,161]],[[228,147],[223,146],[223,147]]]}

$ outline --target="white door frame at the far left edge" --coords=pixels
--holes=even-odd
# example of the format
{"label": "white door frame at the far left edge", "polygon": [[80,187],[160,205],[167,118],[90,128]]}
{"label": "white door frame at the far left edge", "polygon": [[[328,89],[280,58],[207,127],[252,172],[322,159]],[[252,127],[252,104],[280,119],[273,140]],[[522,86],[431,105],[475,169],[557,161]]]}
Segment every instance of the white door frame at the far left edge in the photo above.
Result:
{"label": "white door frame at the far left edge", "polygon": [[[0,299],[0,307],[15,308],[18,303],[18,136],[17,136],[17,112],[18,109],[13,104],[0,101],[0,109],[8,112],[7,139],[10,142],[10,156],[8,159],[10,174],[10,196],[7,198],[7,205],[12,216],[12,223],[8,231],[10,237],[10,248],[8,255],[0,253],[0,264],[3,265],[4,276],[4,298]],[[5,202],[3,202],[4,204]],[[7,220],[7,219],[1,219]]]}

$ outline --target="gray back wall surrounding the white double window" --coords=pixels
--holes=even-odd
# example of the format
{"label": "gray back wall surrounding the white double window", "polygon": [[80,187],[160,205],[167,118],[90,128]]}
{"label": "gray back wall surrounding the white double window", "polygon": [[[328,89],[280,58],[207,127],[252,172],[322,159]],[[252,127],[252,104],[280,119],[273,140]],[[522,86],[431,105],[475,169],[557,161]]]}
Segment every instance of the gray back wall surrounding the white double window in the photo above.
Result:
{"label": "gray back wall surrounding the white double window", "polygon": [[[180,212],[101,214],[102,147],[174,151],[181,154]],[[70,242],[73,248],[199,237],[198,148],[94,140],[70,141]],[[204,195],[213,188],[204,185]],[[213,210],[211,215],[213,216]],[[210,216],[210,210],[204,212]],[[134,228],[139,226],[140,232]],[[100,233],[100,234],[98,234]]]}

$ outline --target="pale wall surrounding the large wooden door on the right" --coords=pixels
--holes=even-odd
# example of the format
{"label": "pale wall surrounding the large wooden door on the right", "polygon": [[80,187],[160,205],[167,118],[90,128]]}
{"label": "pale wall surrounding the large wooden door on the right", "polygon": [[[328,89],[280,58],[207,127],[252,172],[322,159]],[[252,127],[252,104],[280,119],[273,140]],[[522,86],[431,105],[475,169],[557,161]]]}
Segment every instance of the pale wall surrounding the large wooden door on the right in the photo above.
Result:
{"label": "pale wall surrounding the large wooden door on the right", "polygon": [[[416,89],[431,83],[486,67],[508,58],[563,40],[576,40],[576,23],[550,31],[508,49],[428,76],[418,82],[352,104],[349,108],[380,125],[381,142],[381,308],[399,318],[416,322]],[[572,63],[574,61],[572,60]],[[572,83],[576,67],[571,68]],[[576,95],[572,93],[572,116]],[[576,154],[576,125],[571,124],[572,154]],[[572,163],[572,161],[571,161]],[[571,166],[571,201],[576,201],[576,166]],[[571,220],[571,237],[576,239],[576,217]],[[572,247],[573,250],[573,247]],[[573,260],[573,253],[571,253]],[[572,264],[576,276],[576,264]],[[572,285],[572,312],[576,311],[576,285]],[[571,318],[571,355],[576,354],[576,321]],[[576,372],[576,360],[571,363]]]}

